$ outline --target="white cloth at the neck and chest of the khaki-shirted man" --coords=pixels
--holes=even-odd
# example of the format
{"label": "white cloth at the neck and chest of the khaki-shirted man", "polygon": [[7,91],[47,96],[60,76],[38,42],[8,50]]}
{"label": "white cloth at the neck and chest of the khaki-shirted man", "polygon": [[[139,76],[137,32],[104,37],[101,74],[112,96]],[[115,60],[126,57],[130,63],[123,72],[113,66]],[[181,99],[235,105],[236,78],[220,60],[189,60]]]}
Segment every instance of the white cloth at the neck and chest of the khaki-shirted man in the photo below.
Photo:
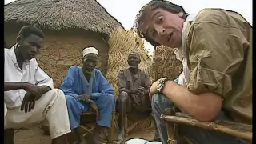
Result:
{"label": "white cloth at the neck and chest of the khaki-shirted man", "polygon": [[[193,21],[195,18],[195,14],[190,14],[186,21],[183,23],[182,28],[182,47],[181,48],[174,48],[174,54],[176,55],[176,58],[180,61],[182,61],[182,74],[178,77],[178,84],[182,86],[187,86],[188,82],[190,82],[190,70],[187,66],[187,58],[186,58],[186,38],[188,35],[188,32],[186,31],[186,26],[188,22]],[[181,79],[180,79],[181,78]]]}

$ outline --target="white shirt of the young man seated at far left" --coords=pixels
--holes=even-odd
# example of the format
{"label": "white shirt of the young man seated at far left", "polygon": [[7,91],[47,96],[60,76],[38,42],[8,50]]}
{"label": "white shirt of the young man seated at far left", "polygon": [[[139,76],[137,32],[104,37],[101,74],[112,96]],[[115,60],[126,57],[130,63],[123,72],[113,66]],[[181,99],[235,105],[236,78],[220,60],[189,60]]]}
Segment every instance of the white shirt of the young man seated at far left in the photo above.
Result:
{"label": "white shirt of the young man seated at far left", "polygon": [[[38,86],[50,86],[54,88],[53,79],[50,78],[39,66],[35,58],[24,62],[22,70],[18,66],[14,49],[5,49],[4,82],[30,82]],[[26,94],[25,90],[10,90],[4,92],[4,99],[8,109],[13,109],[22,105],[22,100]]]}

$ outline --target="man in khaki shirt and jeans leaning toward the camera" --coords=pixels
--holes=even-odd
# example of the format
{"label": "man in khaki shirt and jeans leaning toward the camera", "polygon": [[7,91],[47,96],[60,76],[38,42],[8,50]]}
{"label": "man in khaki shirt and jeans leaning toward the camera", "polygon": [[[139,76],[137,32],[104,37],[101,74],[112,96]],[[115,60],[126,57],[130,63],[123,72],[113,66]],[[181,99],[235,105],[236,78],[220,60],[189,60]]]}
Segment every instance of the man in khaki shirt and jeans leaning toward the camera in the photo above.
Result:
{"label": "man in khaki shirt and jeans leaning toward the camera", "polygon": [[[187,14],[182,6],[153,0],[143,6],[135,30],[154,46],[178,48],[183,86],[161,78],[150,87],[152,109],[162,143],[166,124],[160,114],[171,106],[202,122],[252,122],[252,26],[230,10],[204,9]],[[196,144],[249,143],[226,134],[180,127]]]}

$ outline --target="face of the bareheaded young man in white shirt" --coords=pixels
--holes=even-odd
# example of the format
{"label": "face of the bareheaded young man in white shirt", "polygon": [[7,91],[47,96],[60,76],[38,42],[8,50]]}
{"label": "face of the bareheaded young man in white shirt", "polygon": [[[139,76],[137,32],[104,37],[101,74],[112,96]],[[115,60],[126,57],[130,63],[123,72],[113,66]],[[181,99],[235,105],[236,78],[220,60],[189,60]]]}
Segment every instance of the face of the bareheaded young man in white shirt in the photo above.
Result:
{"label": "face of the bareheaded young man in white shirt", "polygon": [[42,47],[43,39],[35,34],[30,34],[27,38],[18,37],[19,52],[26,60],[34,58]]}

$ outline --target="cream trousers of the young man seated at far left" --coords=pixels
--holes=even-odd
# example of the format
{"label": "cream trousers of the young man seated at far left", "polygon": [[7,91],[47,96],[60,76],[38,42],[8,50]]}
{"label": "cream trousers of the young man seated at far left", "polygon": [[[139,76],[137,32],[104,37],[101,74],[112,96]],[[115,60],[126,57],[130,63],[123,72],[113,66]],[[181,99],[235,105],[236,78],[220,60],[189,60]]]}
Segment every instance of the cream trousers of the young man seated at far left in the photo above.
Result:
{"label": "cream trousers of the young man seated at far left", "polygon": [[[6,113],[7,112],[7,113]],[[70,121],[66,107],[66,98],[62,90],[53,89],[43,94],[35,102],[34,109],[25,113],[20,107],[5,111],[5,129],[17,129],[45,118],[49,122],[50,137],[57,138],[70,133]]]}

